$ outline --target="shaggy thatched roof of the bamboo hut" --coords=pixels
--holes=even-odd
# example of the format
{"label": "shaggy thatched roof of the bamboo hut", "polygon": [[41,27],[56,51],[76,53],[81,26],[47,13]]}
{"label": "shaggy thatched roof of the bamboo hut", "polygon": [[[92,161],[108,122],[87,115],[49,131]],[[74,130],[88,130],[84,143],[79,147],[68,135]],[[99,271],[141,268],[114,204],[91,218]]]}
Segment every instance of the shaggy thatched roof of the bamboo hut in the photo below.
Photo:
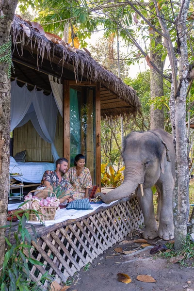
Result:
{"label": "shaggy thatched roof of the bamboo hut", "polygon": [[[55,63],[62,68],[61,72],[59,70],[62,79],[76,80],[78,83],[83,80],[100,82],[102,117],[116,116],[120,113],[135,116],[140,111],[140,101],[133,88],[99,65],[89,53],[70,47],[57,36],[49,35],[49,40],[43,29],[32,27],[31,23],[18,16],[14,16],[11,35],[14,54],[21,60],[25,51],[31,51],[31,55],[36,55],[36,59],[33,56],[33,62],[37,68],[49,61],[51,66]],[[74,78],[71,76],[67,79],[66,69],[74,73]],[[53,71],[56,73],[56,69]]]}

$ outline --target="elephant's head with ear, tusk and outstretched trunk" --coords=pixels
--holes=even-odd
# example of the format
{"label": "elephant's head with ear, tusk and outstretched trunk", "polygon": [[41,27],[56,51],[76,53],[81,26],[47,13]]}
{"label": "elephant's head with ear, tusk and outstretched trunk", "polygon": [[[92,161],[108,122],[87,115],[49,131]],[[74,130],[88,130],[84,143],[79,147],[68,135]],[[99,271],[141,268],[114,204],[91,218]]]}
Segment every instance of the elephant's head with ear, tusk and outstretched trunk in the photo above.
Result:
{"label": "elephant's head with ear, tusk and outstretched trunk", "polygon": [[[143,188],[155,185],[164,173],[167,162],[170,162],[171,152],[174,151],[171,139],[168,133],[160,129],[130,133],[123,152],[124,181],[120,187],[106,195],[101,194],[103,201],[110,203],[129,196],[139,185],[143,195]],[[170,152],[168,145],[172,148]]]}

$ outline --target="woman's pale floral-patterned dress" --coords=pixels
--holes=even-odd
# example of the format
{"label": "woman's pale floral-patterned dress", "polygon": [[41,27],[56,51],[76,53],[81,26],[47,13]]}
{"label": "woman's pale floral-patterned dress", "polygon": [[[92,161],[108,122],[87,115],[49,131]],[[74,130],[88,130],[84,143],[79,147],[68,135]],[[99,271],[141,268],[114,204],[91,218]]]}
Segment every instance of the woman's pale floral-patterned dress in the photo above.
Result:
{"label": "woman's pale floral-patterned dress", "polygon": [[73,199],[81,199],[85,196],[85,189],[92,188],[90,170],[83,167],[80,175],[77,176],[76,167],[71,167],[64,176],[65,180],[74,187]]}

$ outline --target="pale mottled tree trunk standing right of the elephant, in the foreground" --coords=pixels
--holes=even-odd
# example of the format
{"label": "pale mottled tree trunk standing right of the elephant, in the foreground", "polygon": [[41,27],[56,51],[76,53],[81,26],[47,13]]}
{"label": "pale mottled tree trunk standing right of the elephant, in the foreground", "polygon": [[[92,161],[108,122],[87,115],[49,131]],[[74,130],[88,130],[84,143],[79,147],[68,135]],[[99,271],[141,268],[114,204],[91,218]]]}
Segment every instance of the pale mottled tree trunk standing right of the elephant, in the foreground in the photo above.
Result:
{"label": "pale mottled tree trunk standing right of the elephant, in the foreground", "polygon": [[181,249],[187,235],[189,216],[189,166],[187,160],[186,97],[188,88],[188,53],[186,19],[190,0],[185,0],[178,16],[179,78],[175,95],[176,157],[178,171],[178,205],[175,221],[175,249]]}

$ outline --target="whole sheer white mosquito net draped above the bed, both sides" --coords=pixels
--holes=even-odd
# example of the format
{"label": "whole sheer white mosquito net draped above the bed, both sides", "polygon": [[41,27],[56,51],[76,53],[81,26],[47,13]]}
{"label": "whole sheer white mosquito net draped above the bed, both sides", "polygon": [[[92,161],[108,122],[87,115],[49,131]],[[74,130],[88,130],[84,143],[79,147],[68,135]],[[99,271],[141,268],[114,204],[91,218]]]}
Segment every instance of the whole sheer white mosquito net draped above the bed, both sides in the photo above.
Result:
{"label": "whole sheer white mosquito net draped above the bed, both sides", "polygon": [[35,88],[30,92],[26,85],[20,88],[16,80],[11,82],[11,86],[11,130],[31,119],[38,134],[51,144],[56,161],[59,159],[54,146],[58,109],[52,93],[46,96],[43,90],[37,91]]}

